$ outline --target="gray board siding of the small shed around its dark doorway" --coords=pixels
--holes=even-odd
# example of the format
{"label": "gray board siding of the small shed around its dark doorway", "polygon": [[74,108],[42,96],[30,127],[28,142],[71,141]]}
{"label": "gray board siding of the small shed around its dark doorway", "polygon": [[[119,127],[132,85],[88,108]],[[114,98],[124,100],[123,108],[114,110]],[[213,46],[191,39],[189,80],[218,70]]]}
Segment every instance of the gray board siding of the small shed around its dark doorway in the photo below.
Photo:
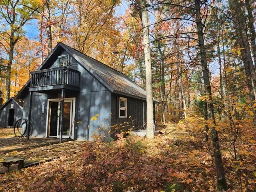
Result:
{"label": "gray board siding of the small shed around its dark doorway", "polygon": [[10,100],[6,106],[4,106],[1,110],[0,110],[0,127],[6,128],[8,126],[8,118],[9,118],[9,114],[8,111],[9,109],[11,109],[11,104],[13,104],[13,109],[14,109],[14,124],[15,122],[22,118],[22,108],[20,108],[20,106],[14,102],[14,100]]}

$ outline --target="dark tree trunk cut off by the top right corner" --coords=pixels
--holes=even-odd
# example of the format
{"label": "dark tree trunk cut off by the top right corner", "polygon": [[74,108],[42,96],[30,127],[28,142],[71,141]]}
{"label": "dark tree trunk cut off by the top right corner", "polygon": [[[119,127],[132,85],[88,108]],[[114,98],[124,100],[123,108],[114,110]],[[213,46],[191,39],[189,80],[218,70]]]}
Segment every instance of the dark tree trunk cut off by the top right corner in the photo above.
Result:
{"label": "dark tree trunk cut off by the top right corner", "polygon": [[255,34],[255,28],[254,28],[254,18],[252,15],[252,1],[250,0],[245,0],[245,6],[246,10],[248,12],[248,25],[249,25],[249,30],[250,30],[250,41],[251,41],[251,46],[252,46],[252,55],[254,58],[254,66],[256,67],[256,34]]}

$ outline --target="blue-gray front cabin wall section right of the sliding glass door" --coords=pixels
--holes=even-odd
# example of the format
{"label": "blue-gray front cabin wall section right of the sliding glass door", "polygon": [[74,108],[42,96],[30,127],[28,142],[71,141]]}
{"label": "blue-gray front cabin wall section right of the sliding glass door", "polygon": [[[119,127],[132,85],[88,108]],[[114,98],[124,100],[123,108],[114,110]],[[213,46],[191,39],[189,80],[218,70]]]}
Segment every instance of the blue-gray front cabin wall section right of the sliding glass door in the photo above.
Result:
{"label": "blue-gray front cabin wall section right of the sliding glass door", "polygon": [[[72,58],[72,63],[78,62]],[[93,135],[104,136],[110,129],[111,93],[80,64],[74,66],[74,69],[81,72],[77,139],[93,140]],[[96,114],[99,115],[97,120],[91,120]]]}

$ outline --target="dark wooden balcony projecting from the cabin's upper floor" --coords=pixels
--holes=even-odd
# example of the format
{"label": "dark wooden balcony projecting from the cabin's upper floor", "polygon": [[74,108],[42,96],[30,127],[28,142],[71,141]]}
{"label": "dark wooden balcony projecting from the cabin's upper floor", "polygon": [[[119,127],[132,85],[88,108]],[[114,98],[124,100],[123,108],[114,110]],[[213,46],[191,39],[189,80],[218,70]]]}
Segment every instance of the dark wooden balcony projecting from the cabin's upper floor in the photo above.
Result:
{"label": "dark wooden balcony projecting from the cabin's upper floor", "polygon": [[67,67],[58,67],[31,72],[29,91],[80,90],[80,72]]}

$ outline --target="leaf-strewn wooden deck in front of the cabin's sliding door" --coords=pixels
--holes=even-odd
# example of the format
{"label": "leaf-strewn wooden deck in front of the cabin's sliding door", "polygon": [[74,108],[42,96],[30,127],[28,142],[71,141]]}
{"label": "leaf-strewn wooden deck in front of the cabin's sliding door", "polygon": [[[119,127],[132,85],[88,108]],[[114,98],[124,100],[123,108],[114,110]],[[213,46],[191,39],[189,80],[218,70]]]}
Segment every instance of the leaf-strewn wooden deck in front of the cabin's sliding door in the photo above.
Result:
{"label": "leaf-strewn wooden deck in front of the cabin's sliding door", "polygon": [[84,143],[86,141],[66,142],[63,139],[63,143],[59,144],[56,138],[30,138],[29,141],[26,138],[0,138],[0,157],[23,158],[27,167],[59,158],[66,150],[71,154],[79,152]]}

